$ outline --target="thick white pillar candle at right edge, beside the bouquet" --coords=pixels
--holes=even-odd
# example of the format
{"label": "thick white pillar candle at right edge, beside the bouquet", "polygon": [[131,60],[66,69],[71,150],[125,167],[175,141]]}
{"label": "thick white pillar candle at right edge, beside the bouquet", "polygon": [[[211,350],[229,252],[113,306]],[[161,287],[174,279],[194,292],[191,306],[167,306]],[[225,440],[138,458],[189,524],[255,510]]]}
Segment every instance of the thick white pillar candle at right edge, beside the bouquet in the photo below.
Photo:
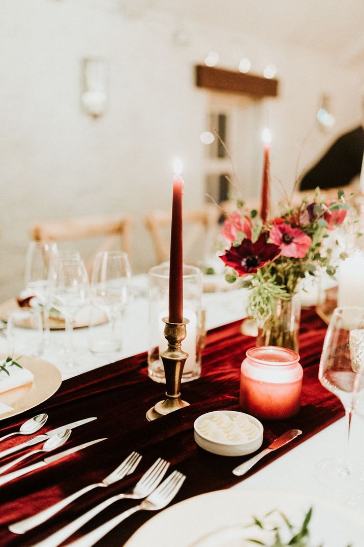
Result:
{"label": "thick white pillar candle at right edge, beside the bouquet", "polygon": [[364,255],[357,251],[340,263],[338,306],[364,306]]}

